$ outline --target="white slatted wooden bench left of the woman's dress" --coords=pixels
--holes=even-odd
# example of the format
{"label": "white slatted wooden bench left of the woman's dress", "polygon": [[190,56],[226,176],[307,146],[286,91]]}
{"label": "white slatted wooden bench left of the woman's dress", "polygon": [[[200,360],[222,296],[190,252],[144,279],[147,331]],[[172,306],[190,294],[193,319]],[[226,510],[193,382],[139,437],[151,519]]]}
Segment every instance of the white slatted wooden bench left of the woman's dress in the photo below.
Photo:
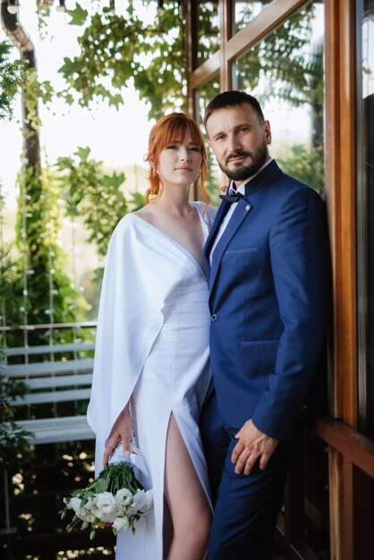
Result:
{"label": "white slatted wooden bench left of the woman's dress", "polygon": [[[33,417],[38,405],[51,403],[55,408],[56,403],[89,400],[93,358],[87,357],[87,352],[92,353],[94,346],[94,343],[48,344],[9,348],[6,351],[7,363],[0,364],[0,374],[22,381],[27,386],[26,395],[17,397],[12,404],[15,407],[26,406],[26,413],[16,421],[34,434],[34,437],[30,437],[31,443],[46,444],[94,437],[83,414]],[[73,359],[66,358],[69,354]],[[38,361],[28,363],[31,356],[38,356]],[[24,363],[9,363],[18,357],[22,357]]]}

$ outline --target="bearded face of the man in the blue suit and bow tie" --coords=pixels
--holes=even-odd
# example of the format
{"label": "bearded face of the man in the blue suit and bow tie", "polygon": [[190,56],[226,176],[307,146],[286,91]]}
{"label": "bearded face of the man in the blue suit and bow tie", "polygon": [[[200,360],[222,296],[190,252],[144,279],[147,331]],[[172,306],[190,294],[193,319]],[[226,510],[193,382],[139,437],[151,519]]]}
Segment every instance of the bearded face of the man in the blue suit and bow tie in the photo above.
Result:
{"label": "bearded face of the man in the blue suit and bow tie", "polygon": [[222,171],[236,184],[257,173],[268,159],[270,124],[251,105],[217,109],[208,118],[209,144]]}

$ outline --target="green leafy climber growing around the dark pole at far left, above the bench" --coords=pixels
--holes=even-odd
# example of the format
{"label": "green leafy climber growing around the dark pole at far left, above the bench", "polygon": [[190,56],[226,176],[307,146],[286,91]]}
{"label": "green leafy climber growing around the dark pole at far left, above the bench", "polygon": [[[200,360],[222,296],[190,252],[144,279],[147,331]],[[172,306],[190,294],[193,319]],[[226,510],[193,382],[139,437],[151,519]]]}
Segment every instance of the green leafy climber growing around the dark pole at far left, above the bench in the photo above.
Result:
{"label": "green leafy climber growing around the dark pole at far left, above the bench", "polygon": [[[47,81],[39,82],[35,69],[27,68],[25,61],[10,63],[11,49],[11,44],[0,42],[0,83],[3,86],[0,118],[11,118],[12,99],[22,90],[25,110],[22,132],[30,150],[20,179],[16,227],[19,254],[15,256],[12,248],[4,243],[0,248],[1,314],[8,326],[20,325],[26,317],[30,323],[37,324],[48,322],[51,315],[55,322],[76,320],[77,302],[81,309],[84,302],[64,274],[63,251],[57,244],[59,193],[48,170],[40,168],[38,100],[50,101],[52,87]],[[3,205],[4,200],[0,199],[0,207]],[[37,338],[31,333],[30,343],[36,344]],[[17,344],[14,336],[9,343]]]}

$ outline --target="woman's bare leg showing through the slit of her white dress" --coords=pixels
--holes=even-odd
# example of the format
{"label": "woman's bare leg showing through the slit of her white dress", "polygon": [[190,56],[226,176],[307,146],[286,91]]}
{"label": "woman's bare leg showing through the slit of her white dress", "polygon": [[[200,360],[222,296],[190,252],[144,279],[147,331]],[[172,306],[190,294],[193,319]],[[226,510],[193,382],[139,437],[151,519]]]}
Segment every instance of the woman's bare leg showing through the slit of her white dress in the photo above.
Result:
{"label": "woman's bare leg showing through the slit of her white dress", "polygon": [[203,560],[212,516],[173,414],[166,437],[165,496],[174,531],[167,560]]}

